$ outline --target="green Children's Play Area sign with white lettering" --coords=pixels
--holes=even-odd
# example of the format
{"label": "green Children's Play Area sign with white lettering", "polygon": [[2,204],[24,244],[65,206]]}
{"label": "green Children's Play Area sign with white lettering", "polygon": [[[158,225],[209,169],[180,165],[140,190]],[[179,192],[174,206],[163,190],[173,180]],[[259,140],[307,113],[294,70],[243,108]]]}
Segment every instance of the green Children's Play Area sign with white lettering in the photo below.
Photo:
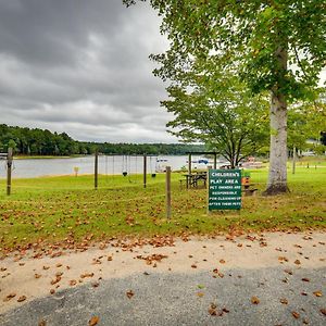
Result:
{"label": "green Children's Play Area sign with white lettering", "polygon": [[241,171],[209,171],[209,211],[241,209]]}

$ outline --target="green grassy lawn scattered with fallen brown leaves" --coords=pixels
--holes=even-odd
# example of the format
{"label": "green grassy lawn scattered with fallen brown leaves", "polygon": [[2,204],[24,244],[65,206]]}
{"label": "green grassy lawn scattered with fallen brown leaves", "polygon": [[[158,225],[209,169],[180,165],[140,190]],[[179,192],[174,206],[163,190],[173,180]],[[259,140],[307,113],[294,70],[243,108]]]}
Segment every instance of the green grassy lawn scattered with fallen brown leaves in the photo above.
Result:
{"label": "green grassy lawn scattered with fallen brown leaves", "polygon": [[[319,164],[323,165],[323,164]],[[206,214],[206,189],[180,188],[181,174],[173,173],[173,216],[165,217],[165,175],[92,176],[14,179],[12,196],[0,180],[1,251],[28,243],[80,243],[136,235],[216,234],[260,230],[326,229],[326,168],[310,164],[289,170],[291,192],[262,197],[267,171],[251,172],[259,188],[244,197],[241,211]]]}

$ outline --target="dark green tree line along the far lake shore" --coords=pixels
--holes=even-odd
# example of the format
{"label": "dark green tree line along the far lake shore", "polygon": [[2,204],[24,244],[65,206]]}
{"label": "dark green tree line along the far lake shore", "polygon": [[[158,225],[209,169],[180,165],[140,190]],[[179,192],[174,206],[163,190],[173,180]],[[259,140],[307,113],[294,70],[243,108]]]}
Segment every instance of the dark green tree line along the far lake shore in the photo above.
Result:
{"label": "dark green tree line along the far lake shore", "polygon": [[20,155],[92,154],[97,149],[104,154],[171,154],[204,151],[203,145],[188,143],[111,143],[77,141],[66,133],[51,133],[0,124],[0,152],[12,148]]}

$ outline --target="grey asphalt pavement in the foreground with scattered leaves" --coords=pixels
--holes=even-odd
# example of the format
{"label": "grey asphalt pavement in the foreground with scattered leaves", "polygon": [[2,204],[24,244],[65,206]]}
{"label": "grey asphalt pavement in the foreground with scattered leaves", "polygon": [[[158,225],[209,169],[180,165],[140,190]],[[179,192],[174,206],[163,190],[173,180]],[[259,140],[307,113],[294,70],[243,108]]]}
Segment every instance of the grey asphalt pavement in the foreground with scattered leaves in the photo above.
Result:
{"label": "grey asphalt pavement in the foreground with scattered leaves", "polygon": [[[214,278],[212,271],[168,274],[150,269],[149,275],[108,279],[97,288],[88,284],[37,299],[0,315],[0,324],[88,325],[97,316],[97,325],[326,325],[321,312],[326,309],[326,268],[299,268],[292,275],[284,269],[228,269],[223,278]],[[131,298],[126,296],[129,290]],[[323,296],[316,297],[315,291]],[[252,297],[260,302],[253,304]],[[216,308],[211,313],[216,315],[209,313],[212,303]]]}

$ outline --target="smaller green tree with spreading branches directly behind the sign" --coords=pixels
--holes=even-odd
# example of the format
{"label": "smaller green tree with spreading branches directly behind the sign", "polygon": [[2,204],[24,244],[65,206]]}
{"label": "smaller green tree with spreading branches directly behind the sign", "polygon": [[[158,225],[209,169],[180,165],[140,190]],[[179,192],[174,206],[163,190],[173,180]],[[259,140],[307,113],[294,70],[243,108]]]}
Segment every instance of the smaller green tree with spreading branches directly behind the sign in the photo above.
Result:
{"label": "smaller green tree with spreading branches directly behind the sign", "polygon": [[213,71],[214,79],[220,74],[216,84],[211,83],[211,76],[198,73],[197,65],[197,72],[186,75],[187,83],[167,88],[171,100],[162,104],[175,116],[167,126],[186,141],[206,143],[234,168],[266,143],[267,103],[252,97],[231,74]]}

